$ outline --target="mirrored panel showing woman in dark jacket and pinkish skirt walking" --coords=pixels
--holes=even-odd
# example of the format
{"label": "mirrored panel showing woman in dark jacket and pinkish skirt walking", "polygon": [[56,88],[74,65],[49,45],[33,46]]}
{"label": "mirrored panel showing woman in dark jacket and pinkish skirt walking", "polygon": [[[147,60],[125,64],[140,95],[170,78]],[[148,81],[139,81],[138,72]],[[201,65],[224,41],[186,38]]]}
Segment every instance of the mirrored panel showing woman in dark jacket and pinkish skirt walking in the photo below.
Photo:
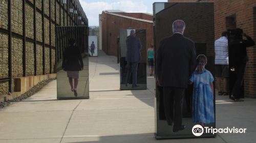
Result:
{"label": "mirrored panel showing woman in dark jacket and pinkish skirt walking", "polygon": [[87,27],[56,27],[57,99],[89,99]]}

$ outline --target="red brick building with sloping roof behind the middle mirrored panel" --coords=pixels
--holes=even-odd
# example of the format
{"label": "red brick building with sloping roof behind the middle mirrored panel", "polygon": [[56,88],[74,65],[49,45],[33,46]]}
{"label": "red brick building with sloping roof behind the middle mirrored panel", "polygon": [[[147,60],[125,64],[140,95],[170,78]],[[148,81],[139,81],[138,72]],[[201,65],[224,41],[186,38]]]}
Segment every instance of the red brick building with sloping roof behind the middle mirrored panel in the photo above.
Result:
{"label": "red brick building with sloping roof behind the middle mirrored panel", "polygon": [[154,45],[153,15],[147,13],[126,13],[121,11],[103,11],[100,14],[100,41],[102,50],[112,56],[118,56],[120,29],[145,29],[146,48]]}

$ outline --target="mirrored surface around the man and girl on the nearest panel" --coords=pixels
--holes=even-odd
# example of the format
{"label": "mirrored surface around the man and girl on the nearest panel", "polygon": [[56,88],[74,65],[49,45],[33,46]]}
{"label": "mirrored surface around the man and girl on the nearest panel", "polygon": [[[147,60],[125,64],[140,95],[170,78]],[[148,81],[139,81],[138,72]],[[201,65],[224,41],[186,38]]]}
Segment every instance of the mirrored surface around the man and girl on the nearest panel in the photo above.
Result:
{"label": "mirrored surface around the man and girl on the nearest panel", "polygon": [[[175,20],[181,19],[185,22],[186,27],[184,31],[184,37],[187,37],[195,42],[196,55],[204,54],[207,57],[207,64],[205,68],[210,71],[214,76],[214,3],[154,3],[154,30],[155,30],[155,51],[158,55],[158,49],[160,41],[165,37],[173,35],[172,24]],[[156,61],[158,60],[155,57]],[[177,59],[179,62],[179,59]],[[180,63],[182,64],[182,63]],[[155,71],[157,71],[155,66]],[[175,68],[175,67],[174,67]],[[157,84],[156,77],[156,85]],[[182,103],[182,125],[185,125],[184,130],[173,132],[173,125],[168,125],[166,122],[166,115],[164,110],[164,98],[163,87],[156,86],[156,98],[155,98],[155,136],[158,139],[161,138],[190,138],[196,137],[192,133],[192,129],[195,125],[200,123],[194,123],[193,117],[196,114],[193,112],[193,107],[196,106],[193,91],[193,85],[188,85],[185,89],[185,94]],[[212,96],[211,96],[212,98]],[[171,102],[168,102],[171,104]],[[209,103],[213,103],[212,114],[215,117],[215,96]],[[194,105],[195,104],[195,105]],[[197,104],[201,105],[201,104]],[[171,109],[172,110],[172,109]],[[174,109],[173,109],[174,110]],[[212,115],[211,114],[211,115]],[[173,117],[175,120],[175,116]],[[179,120],[180,121],[180,120]],[[205,124],[205,127],[215,128],[215,118],[210,124]],[[201,137],[212,137],[215,134],[203,133]]]}

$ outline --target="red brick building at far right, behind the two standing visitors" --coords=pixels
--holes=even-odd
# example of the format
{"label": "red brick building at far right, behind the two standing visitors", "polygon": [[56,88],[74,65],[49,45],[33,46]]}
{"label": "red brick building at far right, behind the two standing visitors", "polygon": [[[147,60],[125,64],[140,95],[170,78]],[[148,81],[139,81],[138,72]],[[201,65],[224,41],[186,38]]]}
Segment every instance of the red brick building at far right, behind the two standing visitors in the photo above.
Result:
{"label": "red brick building at far right, behind the two standing visitors", "polygon": [[[241,28],[256,41],[256,1],[254,0],[168,0],[168,2],[214,2],[215,39],[223,31]],[[256,98],[256,46],[247,49],[249,61],[245,71],[245,96]]]}

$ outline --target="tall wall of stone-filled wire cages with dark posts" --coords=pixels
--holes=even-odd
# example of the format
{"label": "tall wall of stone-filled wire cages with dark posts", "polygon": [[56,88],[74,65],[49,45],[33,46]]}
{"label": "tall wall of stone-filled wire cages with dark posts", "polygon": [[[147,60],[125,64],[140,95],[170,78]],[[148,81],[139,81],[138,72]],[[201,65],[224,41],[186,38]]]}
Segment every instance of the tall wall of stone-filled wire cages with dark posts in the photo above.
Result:
{"label": "tall wall of stone-filled wire cages with dark posts", "polygon": [[56,73],[55,26],[88,27],[78,0],[0,1],[0,96],[16,78]]}

